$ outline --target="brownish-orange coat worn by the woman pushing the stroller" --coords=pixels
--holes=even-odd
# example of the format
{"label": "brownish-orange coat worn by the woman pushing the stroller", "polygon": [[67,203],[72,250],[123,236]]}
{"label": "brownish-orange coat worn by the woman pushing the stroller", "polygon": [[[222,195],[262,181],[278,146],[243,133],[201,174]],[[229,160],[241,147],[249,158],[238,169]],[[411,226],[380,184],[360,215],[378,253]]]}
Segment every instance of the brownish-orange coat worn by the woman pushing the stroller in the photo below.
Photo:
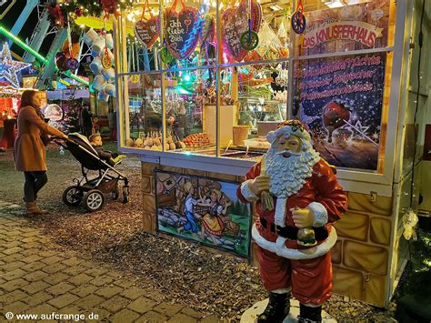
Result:
{"label": "brownish-orange coat worn by the woman pushing the stroller", "polygon": [[64,136],[53,126],[48,126],[37,115],[35,107],[23,106],[18,115],[18,136],[15,139],[15,169],[23,172],[46,170],[45,145],[40,136]]}

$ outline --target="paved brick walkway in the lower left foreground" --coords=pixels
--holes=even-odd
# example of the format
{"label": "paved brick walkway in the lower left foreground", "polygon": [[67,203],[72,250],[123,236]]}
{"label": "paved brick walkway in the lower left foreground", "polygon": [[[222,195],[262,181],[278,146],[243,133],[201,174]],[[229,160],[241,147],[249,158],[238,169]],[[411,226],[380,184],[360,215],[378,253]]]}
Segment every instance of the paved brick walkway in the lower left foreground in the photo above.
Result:
{"label": "paved brick walkway in the lower left foreground", "polygon": [[19,206],[0,201],[0,322],[16,321],[21,314],[43,322],[77,321],[78,315],[81,321],[216,322],[163,301],[157,291],[137,287],[105,263],[65,251],[19,217],[22,213]]}

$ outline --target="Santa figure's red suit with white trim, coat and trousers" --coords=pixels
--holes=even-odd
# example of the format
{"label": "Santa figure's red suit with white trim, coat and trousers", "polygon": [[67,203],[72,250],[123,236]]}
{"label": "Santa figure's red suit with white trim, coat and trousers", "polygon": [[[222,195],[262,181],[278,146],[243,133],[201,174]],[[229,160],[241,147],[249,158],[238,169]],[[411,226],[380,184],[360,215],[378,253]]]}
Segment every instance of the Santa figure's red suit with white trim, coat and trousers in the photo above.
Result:
{"label": "Santa figure's red suit with white trim, coat and trousers", "polygon": [[[254,201],[253,197],[246,194],[249,189],[245,187],[249,180],[260,175],[260,167],[260,163],[252,167],[246,174],[246,182],[237,189],[237,196],[243,203]],[[304,186],[296,194],[286,198],[285,226],[295,227],[291,208],[306,208],[313,202],[326,210],[325,227],[329,237],[318,241],[317,246],[310,248],[308,252],[298,250],[296,239],[278,237],[270,229],[271,224],[275,223],[276,197],[275,209],[271,211],[264,211],[260,199],[256,200],[256,213],[266,220],[266,227],[257,218],[253,237],[260,247],[258,256],[261,277],[267,290],[292,288],[293,295],[301,303],[321,304],[329,298],[332,288],[331,257],[328,251],[336,242],[336,232],[331,223],[338,220],[347,208],[346,193],[338,184],[332,168],[322,159],[313,167],[313,174],[306,179]]]}

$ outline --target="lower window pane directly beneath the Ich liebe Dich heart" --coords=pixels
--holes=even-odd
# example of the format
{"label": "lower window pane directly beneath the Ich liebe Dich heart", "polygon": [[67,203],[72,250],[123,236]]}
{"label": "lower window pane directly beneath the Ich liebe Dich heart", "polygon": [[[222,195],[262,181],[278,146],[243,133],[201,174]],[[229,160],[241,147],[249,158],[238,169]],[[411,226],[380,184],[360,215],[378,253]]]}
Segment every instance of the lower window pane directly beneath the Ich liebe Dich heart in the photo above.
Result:
{"label": "lower window pane directly beneath the Ich liebe Dich heart", "polygon": [[214,156],[216,69],[165,72],[165,151]]}

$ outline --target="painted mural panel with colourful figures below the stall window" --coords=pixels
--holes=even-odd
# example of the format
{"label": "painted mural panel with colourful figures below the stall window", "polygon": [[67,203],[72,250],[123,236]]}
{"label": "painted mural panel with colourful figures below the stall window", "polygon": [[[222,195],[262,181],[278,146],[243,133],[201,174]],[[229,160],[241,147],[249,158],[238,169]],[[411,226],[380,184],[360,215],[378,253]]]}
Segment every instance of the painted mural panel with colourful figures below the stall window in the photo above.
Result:
{"label": "painted mural panel with colourful figures below the stall window", "polygon": [[236,197],[238,183],[155,171],[157,230],[250,256],[250,207]]}

